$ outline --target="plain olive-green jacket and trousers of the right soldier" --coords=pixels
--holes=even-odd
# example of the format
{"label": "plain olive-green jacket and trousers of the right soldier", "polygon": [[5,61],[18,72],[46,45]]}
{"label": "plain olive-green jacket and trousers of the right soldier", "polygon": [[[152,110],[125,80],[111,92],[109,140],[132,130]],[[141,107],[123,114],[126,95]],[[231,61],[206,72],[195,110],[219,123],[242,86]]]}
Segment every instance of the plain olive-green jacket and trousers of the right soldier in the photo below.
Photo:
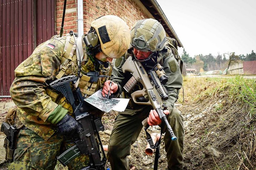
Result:
{"label": "plain olive-green jacket and trousers of the right soldier", "polygon": [[[114,61],[113,70],[117,73],[117,78],[111,80],[118,84],[117,94],[121,94],[123,98],[130,98],[123,90],[123,86],[131,78],[130,73],[123,73],[121,66],[124,64],[125,58],[116,59]],[[145,64],[146,62],[146,64]],[[151,60],[142,62],[146,71],[154,68],[155,63]],[[170,134],[167,132],[164,136],[165,150],[167,152],[168,169],[180,170],[183,168],[183,118],[179,110],[174,107],[174,103],[178,99],[179,90],[182,86],[182,76],[179,65],[173,54],[165,55],[161,64],[169,77],[164,85],[168,91],[168,100],[165,104],[168,106],[170,114],[167,120],[177,137],[176,141],[171,140]],[[142,86],[137,84],[132,92],[142,90]],[[115,94],[115,95],[117,95]],[[137,105],[130,100],[124,112],[119,112],[115,118],[115,124],[110,136],[108,145],[107,158],[110,161],[112,170],[129,170],[129,161],[126,159],[130,155],[131,145],[136,142],[139,133],[142,130],[142,121],[149,116],[150,110],[153,109],[149,105]],[[165,132],[165,131],[164,131]],[[143,154],[143,153],[141,153]]]}

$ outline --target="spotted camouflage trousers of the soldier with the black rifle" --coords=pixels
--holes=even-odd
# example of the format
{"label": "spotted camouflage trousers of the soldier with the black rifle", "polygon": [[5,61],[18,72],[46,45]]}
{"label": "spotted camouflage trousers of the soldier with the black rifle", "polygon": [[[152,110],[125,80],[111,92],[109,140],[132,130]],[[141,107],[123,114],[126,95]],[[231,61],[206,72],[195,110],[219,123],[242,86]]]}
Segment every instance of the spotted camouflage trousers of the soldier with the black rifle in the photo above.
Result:
{"label": "spotted camouflage trousers of the soldier with the black rifle", "polygon": [[[70,148],[72,143],[63,140],[63,136],[54,133],[47,141],[30,129],[21,129],[18,134],[17,149],[14,151],[14,161],[9,170],[53,170],[61,151]],[[88,165],[89,158],[80,155],[67,166],[69,169],[81,169]]]}

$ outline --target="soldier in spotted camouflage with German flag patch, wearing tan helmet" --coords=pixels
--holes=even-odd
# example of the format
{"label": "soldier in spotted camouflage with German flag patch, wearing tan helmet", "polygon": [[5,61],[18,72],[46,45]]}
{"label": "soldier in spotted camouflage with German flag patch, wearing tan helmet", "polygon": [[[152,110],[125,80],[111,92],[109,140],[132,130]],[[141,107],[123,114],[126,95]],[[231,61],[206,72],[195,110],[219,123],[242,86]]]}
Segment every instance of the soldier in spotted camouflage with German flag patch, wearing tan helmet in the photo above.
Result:
{"label": "soldier in spotted camouflage with German flag patch, wearing tan helmet", "polygon": [[[14,161],[9,169],[54,169],[56,156],[73,145],[69,137],[62,134],[71,134],[80,127],[65,97],[50,89],[49,84],[64,76],[79,74],[76,84],[82,94],[92,95],[107,79],[102,77],[89,82],[86,73],[97,71],[111,75],[109,64],[127,51],[129,42],[126,23],[117,16],[106,15],[95,19],[88,34],[82,38],[76,38],[72,32],[65,37],[52,37],[15,69],[16,78],[10,93],[17,105],[15,124],[24,126],[19,132]],[[81,61],[80,73],[78,60]],[[88,156],[80,155],[68,167],[80,169],[88,161]]]}

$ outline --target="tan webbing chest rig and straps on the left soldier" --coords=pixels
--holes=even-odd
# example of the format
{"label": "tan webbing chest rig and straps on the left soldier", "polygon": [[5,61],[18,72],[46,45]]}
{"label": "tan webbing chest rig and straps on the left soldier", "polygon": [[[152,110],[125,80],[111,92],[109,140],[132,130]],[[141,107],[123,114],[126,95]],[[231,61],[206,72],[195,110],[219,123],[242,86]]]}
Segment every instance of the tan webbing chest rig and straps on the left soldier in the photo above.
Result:
{"label": "tan webbing chest rig and straps on the left soldier", "polygon": [[[102,77],[99,78],[96,82],[89,82],[90,77],[87,76],[87,73],[90,71],[95,71],[94,64],[90,60],[88,55],[84,53],[84,51],[86,51],[86,46],[84,43],[82,43],[82,39],[73,36],[73,33],[69,33],[66,35],[66,41],[61,59],[61,66],[56,78],[60,79],[63,76],[77,75],[78,62],[80,60],[80,57],[76,55],[78,54],[77,48],[79,48],[82,67],[79,79],[74,86],[71,86],[71,89],[79,86],[82,95],[84,97],[89,97],[95,91],[99,90],[99,87],[102,87],[107,79]],[[105,70],[105,72],[100,72],[100,74],[111,74],[111,70],[109,68],[105,68]],[[58,93],[50,88],[46,89],[45,91],[46,94],[51,97],[53,102],[67,109],[69,113],[73,113],[71,105],[61,93]]]}

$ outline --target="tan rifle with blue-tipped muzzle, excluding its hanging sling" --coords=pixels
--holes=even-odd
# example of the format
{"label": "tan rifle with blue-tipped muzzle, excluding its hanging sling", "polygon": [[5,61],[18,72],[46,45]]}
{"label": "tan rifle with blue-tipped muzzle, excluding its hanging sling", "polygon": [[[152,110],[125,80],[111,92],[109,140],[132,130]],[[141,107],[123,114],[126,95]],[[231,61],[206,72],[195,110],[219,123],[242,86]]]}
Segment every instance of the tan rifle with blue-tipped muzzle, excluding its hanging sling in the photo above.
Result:
{"label": "tan rifle with blue-tipped muzzle, excluding its hanging sling", "polygon": [[[168,99],[168,92],[161,85],[155,71],[151,70],[148,75],[141,62],[133,61],[131,56],[123,64],[122,70],[124,73],[132,73],[132,78],[124,86],[124,89],[127,92],[130,92],[135,86],[134,84],[136,84],[137,82],[140,82],[144,87],[142,90],[131,93],[133,102],[139,105],[151,105],[158,113],[158,116],[162,120],[162,122],[165,123],[167,130],[171,135],[171,140],[177,140],[177,137],[174,135],[173,130],[169,125],[166,115],[163,113],[163,110],[166,109],[164,100]],[[136,83],[134,82],[135,80]],[[133,86],[131,86],[131,84]],[[138,97],[144,97],[147,102],[137,101]]]}

